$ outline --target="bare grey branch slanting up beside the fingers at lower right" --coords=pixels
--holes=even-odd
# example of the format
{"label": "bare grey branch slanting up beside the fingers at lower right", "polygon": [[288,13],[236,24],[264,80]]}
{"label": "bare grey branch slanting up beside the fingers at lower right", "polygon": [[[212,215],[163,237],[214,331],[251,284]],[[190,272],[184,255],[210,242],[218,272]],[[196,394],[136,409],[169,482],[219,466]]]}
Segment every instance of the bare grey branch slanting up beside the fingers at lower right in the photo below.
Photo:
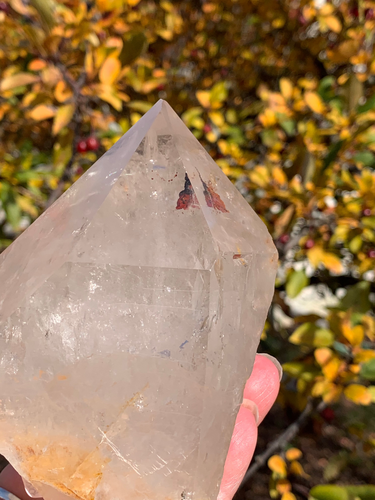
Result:
{"label": "bare grey branch slanting up beside the fingers at lower right", "polygon": [[[316,411],[320,412],[322,411],[326,406],[326,403],[324,401],[321,401],[317,406],[316,406]],[[291,423],[285,430],[284,432],[279,435],[276,439],[274,439],[272,442],[270,442],[263,451],[263,453],[260,453],[260,455],[256,455],[254,458],[254,463],[250,465],[250,467],[247,469],[241,484],[239,485],[239,488],[241,488],[245,482],[252,476],[254,473],[262,467],[268,458],[275,453],[277,450],[283,448],[289,441],[291,441],[295,435],[298,433],[299,429],[301,426],[305,423],[307,420],[307,417],[310,415],[312,410],[314,409],[314,405],[311,400],[307,401],[307,404],[302,411],[302,413],[298,416],[298,418],[295,420],[295,422]]]}

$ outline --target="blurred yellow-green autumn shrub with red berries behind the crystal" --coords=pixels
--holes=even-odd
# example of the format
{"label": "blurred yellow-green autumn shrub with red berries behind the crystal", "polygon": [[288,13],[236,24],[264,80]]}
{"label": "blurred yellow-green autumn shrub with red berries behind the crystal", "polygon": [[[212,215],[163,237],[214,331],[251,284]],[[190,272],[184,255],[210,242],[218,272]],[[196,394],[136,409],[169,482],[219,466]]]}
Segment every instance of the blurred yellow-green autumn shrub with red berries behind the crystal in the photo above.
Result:
{"label": "blurred yellow-green autumn shrub with red berries behind the crystal", "polygon": [[246,500],[375,498],[339,486],[375,475],[374,36],[367,0],[0,1],[1,250],[159,98],[274,238],[259,452],[303,424]]}

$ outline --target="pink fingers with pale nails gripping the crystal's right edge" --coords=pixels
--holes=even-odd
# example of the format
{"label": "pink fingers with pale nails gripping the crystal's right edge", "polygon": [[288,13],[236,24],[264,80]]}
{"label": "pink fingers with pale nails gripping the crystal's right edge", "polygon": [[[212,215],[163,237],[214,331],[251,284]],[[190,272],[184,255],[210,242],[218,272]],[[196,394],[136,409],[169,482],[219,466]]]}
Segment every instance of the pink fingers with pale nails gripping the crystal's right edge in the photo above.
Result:
{"label": "pink fingers with pale nails gripping the crystal's right edge", "polygon": [[241,483],[254,453],[257,426],[276,399],[281,373],[281,365],[274,357],[256,354],[243,390],[243,402],[235,420],[217,500],[231,500]]}

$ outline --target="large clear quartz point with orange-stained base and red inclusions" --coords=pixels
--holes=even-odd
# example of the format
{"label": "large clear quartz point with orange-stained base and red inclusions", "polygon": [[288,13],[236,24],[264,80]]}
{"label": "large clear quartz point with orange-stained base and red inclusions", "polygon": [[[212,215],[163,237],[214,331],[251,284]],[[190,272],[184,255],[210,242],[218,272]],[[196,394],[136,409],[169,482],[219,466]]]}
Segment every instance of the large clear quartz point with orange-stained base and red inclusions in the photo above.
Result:
{"label": "large clear quartz point with orange-stained base and red inclusions", "polygon": [[0,255],[0,452],[45,500],[214,500],[263,222],[159,100]]}

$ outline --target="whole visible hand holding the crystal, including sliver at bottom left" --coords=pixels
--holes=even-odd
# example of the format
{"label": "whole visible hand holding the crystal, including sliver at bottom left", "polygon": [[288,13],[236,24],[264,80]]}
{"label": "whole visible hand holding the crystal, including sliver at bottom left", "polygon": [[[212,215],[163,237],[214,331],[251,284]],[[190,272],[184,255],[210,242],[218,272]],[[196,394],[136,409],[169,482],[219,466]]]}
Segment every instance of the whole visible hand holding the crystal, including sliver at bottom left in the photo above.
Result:
{"label": "whole visible hand holding the crystal, including sliver at bottom left", "polygon": [[[217,500],[231,500],[236,492],[254,453],[257,425],[274,403],[279,385],[276,366],[267,357],[257,354],[250,378],[245,384],[243,398],[257,405],[258,422],[255,422],[251,409],[244,405],[239,407]],[[23,487],[21,476],[11,465],[7,465],[0,473],[0,487],[15,494],[20,500],[30,500]]]}

